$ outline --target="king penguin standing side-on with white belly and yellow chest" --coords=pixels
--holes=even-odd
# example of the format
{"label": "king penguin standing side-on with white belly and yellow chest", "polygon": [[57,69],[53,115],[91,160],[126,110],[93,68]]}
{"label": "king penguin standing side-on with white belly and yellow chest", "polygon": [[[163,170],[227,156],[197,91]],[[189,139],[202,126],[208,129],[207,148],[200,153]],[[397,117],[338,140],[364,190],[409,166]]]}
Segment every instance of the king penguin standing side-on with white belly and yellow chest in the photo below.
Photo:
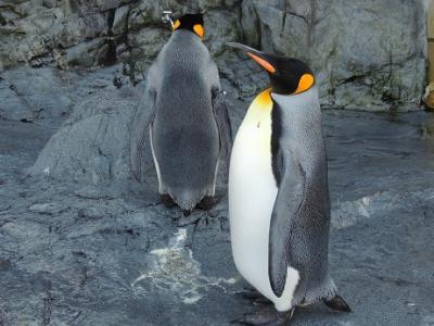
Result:
{"label": "king penguin standing side-on with white belly and yellow chest", "polygon": [[271,84],[233,142],[229,215],[235,266],[276,310],[240,322],[281,325],[296,305],[316,301],[349,312],[329,275],[328,167],[315,76],[299,60],[228,45],[265,68]]}

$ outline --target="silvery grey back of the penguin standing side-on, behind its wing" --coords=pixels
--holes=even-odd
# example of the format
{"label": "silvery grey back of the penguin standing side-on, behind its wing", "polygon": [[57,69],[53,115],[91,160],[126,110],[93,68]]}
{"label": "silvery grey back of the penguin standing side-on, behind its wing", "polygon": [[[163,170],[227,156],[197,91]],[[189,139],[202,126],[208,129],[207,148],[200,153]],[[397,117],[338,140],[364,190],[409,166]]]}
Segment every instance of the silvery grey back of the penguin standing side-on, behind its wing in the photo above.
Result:
{"label": "silvery grey back of the penguin standing side-on, behind its wing", "polygon": [[292,97],[272,95],[281,111],[280,146],[290,148],[304,172],[304,198],[292,224],[290,265],[301,276],[293,304],[334,294],[329,277],[330,198],[318,90]]}

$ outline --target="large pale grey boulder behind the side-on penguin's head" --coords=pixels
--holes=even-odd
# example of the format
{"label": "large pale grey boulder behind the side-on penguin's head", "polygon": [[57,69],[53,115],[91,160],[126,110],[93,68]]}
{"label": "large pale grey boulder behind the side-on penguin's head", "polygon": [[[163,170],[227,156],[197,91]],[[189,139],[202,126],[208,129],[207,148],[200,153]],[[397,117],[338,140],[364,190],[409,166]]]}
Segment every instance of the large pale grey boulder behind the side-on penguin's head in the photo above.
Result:
{"label": "large pale grey boulder behind the side-on penguin's head", "polygon": [[323,104],[363,110],[419,104],[425,82],[422,1],[255,0],[242,9],[248,41],[260,39],[266,51],[311,64]]}

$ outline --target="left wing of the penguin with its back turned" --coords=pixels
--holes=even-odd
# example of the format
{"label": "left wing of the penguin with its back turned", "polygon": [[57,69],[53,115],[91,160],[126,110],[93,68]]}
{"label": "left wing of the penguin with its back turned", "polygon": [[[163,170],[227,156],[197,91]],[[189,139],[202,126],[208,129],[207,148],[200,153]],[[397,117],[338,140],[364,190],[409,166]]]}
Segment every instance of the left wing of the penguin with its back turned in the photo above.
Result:
{"label": "left wing of the penguin with its back turned", "polygon": [[155,98],[156,91],[146,89],[136,108],[135,114],[132,115],[129,140],[129,159],[132,175],[138,181],[141,180],[144,140],[146,135],[149,135],[149,126],[154,121],[155,116]]}

